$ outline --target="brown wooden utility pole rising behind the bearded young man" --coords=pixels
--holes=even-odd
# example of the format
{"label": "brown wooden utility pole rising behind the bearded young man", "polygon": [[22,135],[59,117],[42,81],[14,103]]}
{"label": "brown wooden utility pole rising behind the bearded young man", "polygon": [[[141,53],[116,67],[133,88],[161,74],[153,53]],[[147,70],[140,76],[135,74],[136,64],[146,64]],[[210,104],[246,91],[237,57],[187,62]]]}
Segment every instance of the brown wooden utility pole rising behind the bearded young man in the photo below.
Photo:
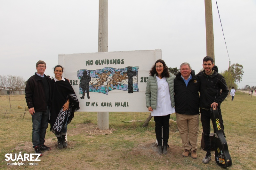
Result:
{"label": "brown wooden utility pole rising behind the bearded young man", "polygon": [[212,0],[204,0],[205,10],[205,30],[206,30],[206,55],[214,57],[214,37],[213,37],[213,21],[212,21]]}

